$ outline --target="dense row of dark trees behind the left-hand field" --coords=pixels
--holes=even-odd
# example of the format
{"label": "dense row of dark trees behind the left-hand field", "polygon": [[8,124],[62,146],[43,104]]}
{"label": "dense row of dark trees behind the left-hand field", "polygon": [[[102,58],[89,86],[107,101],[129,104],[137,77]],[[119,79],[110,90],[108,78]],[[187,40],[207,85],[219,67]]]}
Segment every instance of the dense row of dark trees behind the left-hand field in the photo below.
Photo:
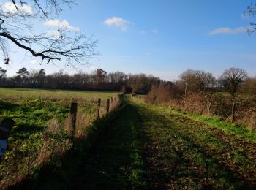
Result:
{"label": "dense row of dark trees behind the left-hand field", "polygon": [[151,86],[159,86],[163,80],[153,75],[124,74],[123,72],[107,73],[96,69],[91,73],[78,72],[74,75],[60,70],[47,75],[44,69],[18,69],[17,75],[7,77],[7,70],[0,67],[0,86],[12,88],[50,88],[74,89],[89,91],[138,91],[147,94]]}

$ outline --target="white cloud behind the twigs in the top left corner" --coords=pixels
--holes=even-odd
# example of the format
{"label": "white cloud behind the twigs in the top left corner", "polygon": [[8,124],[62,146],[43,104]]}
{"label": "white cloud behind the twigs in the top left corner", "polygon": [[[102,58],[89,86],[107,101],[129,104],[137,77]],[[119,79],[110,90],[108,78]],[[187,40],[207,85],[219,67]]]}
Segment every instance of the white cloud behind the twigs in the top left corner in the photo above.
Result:
{"label": "white cloud behind the twigs in the top left corner", "polygon": [[[17,8],[18,10],[17,10]],[[27,4],[23,4],[22,6],[19,4],[11,3],[11,2],[6,2],[4,4],[1,4],[1,9],[3,9],[4,12],[9,12],[10,14],[23,14],[23,15],[34,15],[34,11],[31,6]]]}

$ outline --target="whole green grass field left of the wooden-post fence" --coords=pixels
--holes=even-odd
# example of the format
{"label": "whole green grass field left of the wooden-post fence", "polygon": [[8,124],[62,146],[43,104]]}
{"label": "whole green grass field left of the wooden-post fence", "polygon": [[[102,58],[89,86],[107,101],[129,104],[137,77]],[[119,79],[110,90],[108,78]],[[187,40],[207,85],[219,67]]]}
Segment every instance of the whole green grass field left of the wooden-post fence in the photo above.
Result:
{"label": "whole green grass field left of the wooden-post fence", "polygon": [[[96,118],[97,99],[110,99],[113,94],[0,88],[0,118],[15,121],[8,139],[8,151],[0,163],[0,186],[15,183],[37,170],[43,161],[49,159],[49,155],[42,151],[53,154],[54,146],[56,149],[69,148],[69,134],[64,128],[67,129],[68,125],[70,102],[78,102],[77,126],[83,126]],[[49,144],[45,139],[51,139],[50,143],[54,144],[49,150],[45,150],[46,143]]]}

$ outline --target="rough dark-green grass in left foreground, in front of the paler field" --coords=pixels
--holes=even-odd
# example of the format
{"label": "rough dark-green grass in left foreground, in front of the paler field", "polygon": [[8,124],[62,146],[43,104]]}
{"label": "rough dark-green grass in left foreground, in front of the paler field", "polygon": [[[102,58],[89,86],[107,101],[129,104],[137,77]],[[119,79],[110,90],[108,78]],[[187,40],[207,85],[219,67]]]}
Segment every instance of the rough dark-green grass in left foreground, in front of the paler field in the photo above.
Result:
{"label": "rough dark-green grass in left foreground, in front of the paler field", "polygon": [[37,151],[42,148],[42,137],[49,121],[56,118],[59,123],[64,123],[69,107],[42,99],[22,99],[16,103],[0,100],[0,106],[0,117],[15,121],[8,138],[9,148],[0,163],[0,184],[6,186],[34,170],[31,165],[37,159]]}

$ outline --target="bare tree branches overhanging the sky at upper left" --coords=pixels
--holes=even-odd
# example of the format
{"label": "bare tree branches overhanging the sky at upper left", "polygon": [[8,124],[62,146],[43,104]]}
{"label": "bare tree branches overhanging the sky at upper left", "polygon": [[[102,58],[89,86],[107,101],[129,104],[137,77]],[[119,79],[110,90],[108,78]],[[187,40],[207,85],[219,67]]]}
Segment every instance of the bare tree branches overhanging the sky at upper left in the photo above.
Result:
{"label": "bare tree branches overhanging the sky at upper left", "polygon": [[[79,28],[55,20],[61,7],[70,7],[75,0],[10,0],[0,4],[0,50],[9,64],[8,44],[12,42],[39,58],[40,64],[64,60],[65,64],[86,64],[96,56],[97,42],[82,34]],[[38,21],[54,23],[56,31],[37,34]],[[70,30],[72,29],[72,30]]]}

